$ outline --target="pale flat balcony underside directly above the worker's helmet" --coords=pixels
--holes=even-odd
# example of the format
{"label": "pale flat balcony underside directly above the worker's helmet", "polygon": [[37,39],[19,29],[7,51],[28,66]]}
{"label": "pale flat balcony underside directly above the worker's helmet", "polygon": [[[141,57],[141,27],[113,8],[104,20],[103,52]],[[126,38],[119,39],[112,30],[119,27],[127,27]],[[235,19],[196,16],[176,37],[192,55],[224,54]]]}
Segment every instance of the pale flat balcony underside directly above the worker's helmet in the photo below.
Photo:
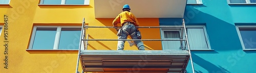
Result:
{"label": "pale flat balcony underside directly above the worker's helmet", "polygon": [[95,18],[115,18],[125,4],[137,18],[183,18],[187,0],[94,0]]}

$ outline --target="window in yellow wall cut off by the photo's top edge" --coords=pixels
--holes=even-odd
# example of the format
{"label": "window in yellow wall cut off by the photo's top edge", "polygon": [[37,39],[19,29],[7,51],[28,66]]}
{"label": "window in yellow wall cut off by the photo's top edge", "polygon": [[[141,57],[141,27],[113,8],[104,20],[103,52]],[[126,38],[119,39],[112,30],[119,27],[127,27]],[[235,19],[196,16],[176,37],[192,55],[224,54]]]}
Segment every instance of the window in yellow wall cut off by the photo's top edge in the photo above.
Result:
{"label": "window in yellow wall cut off by the photo's top edge", "polygon": [[90,0],[41,0],[45,5],[89,5]]}

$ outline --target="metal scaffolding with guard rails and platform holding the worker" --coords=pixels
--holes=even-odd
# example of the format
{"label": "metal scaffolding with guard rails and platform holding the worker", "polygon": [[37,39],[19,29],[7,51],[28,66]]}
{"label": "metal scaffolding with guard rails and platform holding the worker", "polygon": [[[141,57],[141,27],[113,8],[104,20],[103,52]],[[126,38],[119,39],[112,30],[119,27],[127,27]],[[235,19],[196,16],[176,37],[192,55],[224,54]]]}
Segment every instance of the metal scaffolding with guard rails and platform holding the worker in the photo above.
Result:
{"label": "metal scaffolding with guard rails and platform holding the worker", "polygon": [[[79,51],[77,56],[76,73],[78,73],[79,61],[83,72],[131,72],[136,69],[137,72],[186,72],[186,67],[190,59],[193,73],[194,64],[191,57],[190,47],[187,40],[185,21],[183,19],[180,27],[136,27],[136,28],[180,28],[180,39],[85,39],[86,28],[117,28],[117,27],[89,27],[84,26],[85,20],[82,20],[82,29],[79,42]],[[121,28],[121,27],[118,27]],[[184,34],[184,35],[183,35]],[[145,51],[102,51],[87,50],[88,41],[180,41],[181,51],[168,50],[145,50]],[[86,43],[86,44],[84,44]],[[82,45],[83,44],[83,45]],[[81,50],[81,46],[85,46]],[[187,47],[186,47],[187,46]],[[146,58],[141,58],[146,57]],[[142,63],[143,61],[143,63]],[[139,62],[139,64],[138,64]],[[136,67],[135,66],[139,66]],[[143,67],[141,67],[143,66]],[[155,69],[155,70],[152,70]]]}

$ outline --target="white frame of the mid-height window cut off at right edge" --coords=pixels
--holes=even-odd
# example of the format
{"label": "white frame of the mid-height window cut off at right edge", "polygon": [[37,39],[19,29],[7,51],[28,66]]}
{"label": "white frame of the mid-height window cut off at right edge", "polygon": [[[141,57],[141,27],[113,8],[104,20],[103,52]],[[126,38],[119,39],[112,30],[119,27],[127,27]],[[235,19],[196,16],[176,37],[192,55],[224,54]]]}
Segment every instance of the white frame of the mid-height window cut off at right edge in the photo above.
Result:
{"label": "white frame of the mid-height window cut off at right edge", "polygon": [[236,29],[237,29],[237,32],[238,32],[238,36],[239,36],[239,39],[240,39],[240,42],[241,42],[243,50],[244,51],[246,51],[246,50],[256,50],[256,48],[254,48],[254,49],[246,49],[245,48],[244,42],[243,42],[243,39],[242,39],[242,36],[241,36],[239,28],[256,28],[256,26],[236,26]]}

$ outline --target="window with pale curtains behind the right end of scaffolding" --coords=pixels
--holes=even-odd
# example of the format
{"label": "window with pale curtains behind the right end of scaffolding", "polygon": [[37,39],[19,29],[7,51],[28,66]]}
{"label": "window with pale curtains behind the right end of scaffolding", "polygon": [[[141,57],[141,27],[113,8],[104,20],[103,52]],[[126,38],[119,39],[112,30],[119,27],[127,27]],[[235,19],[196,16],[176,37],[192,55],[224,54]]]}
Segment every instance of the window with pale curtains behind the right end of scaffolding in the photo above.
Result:
{"label": "window with pale curtains behind the right end of scaffolding", "polygon": [[[187,26],[187,37],[191,50],[210,50],[204,26]],[[161,29],[162,39],[180,39],[181,29]],[[183,34],[183,39],[184,39]],[[185,42],[182,42],[183,44]],[[181,50],[180,41],[162,41],[163,50]],[[187,46],[186,46],[187,47]],[[187,49],[187,48],[186,48]]]}

